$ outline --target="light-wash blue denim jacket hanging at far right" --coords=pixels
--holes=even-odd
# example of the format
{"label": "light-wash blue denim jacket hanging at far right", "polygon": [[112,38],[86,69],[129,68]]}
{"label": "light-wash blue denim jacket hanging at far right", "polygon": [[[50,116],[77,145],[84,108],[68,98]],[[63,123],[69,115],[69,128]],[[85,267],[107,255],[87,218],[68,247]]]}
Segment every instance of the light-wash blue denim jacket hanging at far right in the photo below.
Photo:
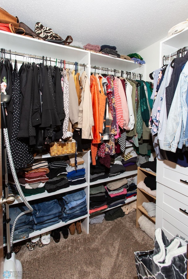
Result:
{"label": "light-wash blue denim jacket hanging at far right", "polygon": [[[167,129],[164,137],[164,150],[176,152],[177,146],[182,148],[184,142],[184,133],[187,121],[187,86],[188,86],[188,62],[182,70],[177,88],[174,93],[170,107]],[[184,127],[182,133],[182,125]],[[188,129],[188,127],[187,127]]]}

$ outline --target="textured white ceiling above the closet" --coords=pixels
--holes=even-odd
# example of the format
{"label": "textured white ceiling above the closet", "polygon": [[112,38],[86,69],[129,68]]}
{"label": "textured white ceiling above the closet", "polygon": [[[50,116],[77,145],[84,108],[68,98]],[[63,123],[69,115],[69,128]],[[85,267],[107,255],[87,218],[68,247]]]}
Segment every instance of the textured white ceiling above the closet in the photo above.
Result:
{"label": "textured white ceiling above the closet", "polygon": [[188,18],[188,0],[1,0],[1,7],[34,30],[35,23],[51,27],[83,45],[111,45],[130,54],[167,36]]}

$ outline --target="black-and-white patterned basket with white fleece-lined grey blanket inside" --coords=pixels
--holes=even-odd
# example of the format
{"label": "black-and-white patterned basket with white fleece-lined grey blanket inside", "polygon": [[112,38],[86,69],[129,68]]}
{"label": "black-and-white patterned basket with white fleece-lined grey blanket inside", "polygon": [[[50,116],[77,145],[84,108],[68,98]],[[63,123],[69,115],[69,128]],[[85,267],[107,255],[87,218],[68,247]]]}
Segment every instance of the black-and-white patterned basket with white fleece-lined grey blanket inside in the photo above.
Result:
{"label": "black-and-white patterned basket with white fleece-lined grey blanket inside", "polygon": [[138,279],[186,279],[187,243],[179,235],[168,240],[160,228],[155,230],[155,248],[134,253]]}

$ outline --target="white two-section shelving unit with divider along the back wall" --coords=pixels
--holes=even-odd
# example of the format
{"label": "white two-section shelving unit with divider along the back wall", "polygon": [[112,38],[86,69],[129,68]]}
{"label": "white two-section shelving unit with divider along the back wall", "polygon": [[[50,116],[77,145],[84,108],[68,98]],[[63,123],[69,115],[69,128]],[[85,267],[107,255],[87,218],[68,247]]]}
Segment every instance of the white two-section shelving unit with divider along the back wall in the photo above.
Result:
{"label": "white two-section shelving unit with divider along the back wall", "polygon": [[[29,57],[29,55],[35,55],[36,58],[37,56],[44,56],[48,57],[51,59],[59,59],[59,60],[66,60],[67,62],[79,62],[80,64],[85,65],[85,71],[88,74],[88,77],[90,76],[91,68],[90,65],[96,66],[96,67],[106,67],[120,71],[129,71],[129,72],[135,72],[135,73],[140,73],[143,74],[144,76],[144,65],[139,65],[134,63],[133,61],[125,60],[125,59],[119,59],[119,58],[114,58],[110,57],[104,54],[98,54],[98,53],[93,53],[90,51],[86,51],[83,49],[78,49],[75,47],[70,47],[70,46],[62,46],[59,44],[55,43],[50,43],[42,40],[37,40],[33,38],[29,38],[26,36],[21,36],[21,35],[16,35],[12,34],[9,32],[5,31],[0,31],[0,41],[1,41],[1,48],[11,50],[13,52],[18,53],[24,53],[25,58],[23,59],[19,55],[11,55],[11,60],[14,63],[15,57],[18,63],[18,69],[19,66],[22,64],[23,61],[26,61],[26,57]],[[28,58],[27,58],[28,59]],[[34,61],[34,59],[32,59]],[[32,62],[31,61],[31,62]],[[30,58],[29,58],[30,62]],[[52,65],[55,63],[52,62]],[[84,67],[80,66],[80,74],[84,71]],[[92,69],[93,71],[93,69]],[[86,183],[82,185],[77,185],[77,186],[70,186],[68,188],[58,190],[57,192],[53,193],[47,193],[46,191],[42,194],[38,195],[33,195],[26,197],[28,201],[31,200],[40,200],[41,198],[44,197],[49,197],[49,196],[54,196],[56,194],[64,193],[64,192],[70,192],[72,190],[76,189],[84,189],[86,192],[86,200],[87,200],[87,206],[89,205],[89,187],[90,185],[93,185],[92,183],[90,184],[89,182],[89,165],[90,165],[90,158],[89,158],[89,153],[90,152],[83,152],[83,159],[86,165],[85,168],[85,179]],[[47,158],[50,157],[49,154],[43,154],[43,155],[37,155],[36,158]],[[105,181],[110,181],[110,180],[115,180],[118,178],[122,178],[125,176],[130,176],[135,174],[136,172],[128,172],[124,173],[122,175],[119,175],[118,177],[114,178],[109,178],[106,179]],[[101,181],[100,181],[101,182]],[[95,182],[96,183],[96,182]],[[131,199],[131,198],[130,198]],[[130,201],[130,199],[128,199]],[[21,202],[21,199],[18,197],[16,198],[15,205],[19,205]],[[82,225],[83,228],[87,233],[89,233],[89,207],[88,207],[88,214],[79,218],[76,218],[74,220],[68,221],[66,224],[70,222],[74,222],[76,220],[82,219]],[[32,234],[29,235],[29,237],[32,237],[34,235],[38,235],[39,233],[47,232],[49,230],[53,230],[57,227],[61,227],[64,223],[60,222],[52,227],[47,227],[43,230],[40,231],[35,231]]]}

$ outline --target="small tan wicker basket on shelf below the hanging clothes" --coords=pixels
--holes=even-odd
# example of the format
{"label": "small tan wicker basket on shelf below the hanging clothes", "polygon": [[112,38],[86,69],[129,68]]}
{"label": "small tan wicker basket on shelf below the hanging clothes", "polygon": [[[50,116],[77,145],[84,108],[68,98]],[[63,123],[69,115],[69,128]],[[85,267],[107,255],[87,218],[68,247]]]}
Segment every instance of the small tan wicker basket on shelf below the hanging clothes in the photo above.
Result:
{"label": "small tan wicker basket on shelf below the hanging clothes", "polygon": [[54,155],[64,155],[75,153],[76,151],[76,143],[75,142],[51,142],[46,145],[46,150],[51,156]]}

